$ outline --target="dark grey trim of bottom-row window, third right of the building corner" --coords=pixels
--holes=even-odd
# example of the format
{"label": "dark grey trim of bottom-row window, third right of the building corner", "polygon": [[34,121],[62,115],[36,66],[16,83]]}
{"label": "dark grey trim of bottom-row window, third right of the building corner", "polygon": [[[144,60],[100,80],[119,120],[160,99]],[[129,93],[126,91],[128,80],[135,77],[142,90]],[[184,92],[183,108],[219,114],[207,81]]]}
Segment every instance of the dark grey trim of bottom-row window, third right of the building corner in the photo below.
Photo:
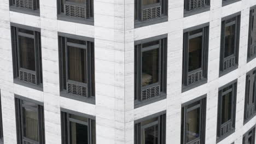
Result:
{"label": "dark grey trim of bottom-row window, third right of the building corner", "polygon": [[[221,127],[221,116],[222,116],[222,109],[220,108],[222,105],[222,90],[226,87],[229,87],[232,85],[232,107],[231,107],[231,123],[232,123],[232,128],[231,130],[220,136],[219,132],[220,132],[220,127]],[[227,83],[226,85],[222,86],[219,88],[219,95],[218,95],[218,116],[217,116],[217,143],[224,140],[226,137],[228,137],[229,135],[231,135],[232,133],[235,132],[235,124],[236,124],[236,93],[237,93],[237,79],[234,81],[231,81],[229,83]]]}

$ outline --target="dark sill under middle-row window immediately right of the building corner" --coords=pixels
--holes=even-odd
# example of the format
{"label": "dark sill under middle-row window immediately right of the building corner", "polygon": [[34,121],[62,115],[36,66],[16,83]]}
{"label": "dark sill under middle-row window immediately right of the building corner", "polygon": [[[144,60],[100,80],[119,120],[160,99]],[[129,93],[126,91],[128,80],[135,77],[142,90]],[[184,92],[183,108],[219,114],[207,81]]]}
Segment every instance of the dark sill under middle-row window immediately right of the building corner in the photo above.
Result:
{"label": "dark sill under middle-row window immediately right of the building corner", "polygon": [[160,100],[163,100],[163,99],[166,99],[166,93],[161,93],[160,96],[155,97],[155,98],[151,98],[149,100],[143,100],[143,101],[135,100],[134,101],[134,109],[136,109],[138,107],[142,107],[144,105],[155,103],[156,101],[160,101]]}

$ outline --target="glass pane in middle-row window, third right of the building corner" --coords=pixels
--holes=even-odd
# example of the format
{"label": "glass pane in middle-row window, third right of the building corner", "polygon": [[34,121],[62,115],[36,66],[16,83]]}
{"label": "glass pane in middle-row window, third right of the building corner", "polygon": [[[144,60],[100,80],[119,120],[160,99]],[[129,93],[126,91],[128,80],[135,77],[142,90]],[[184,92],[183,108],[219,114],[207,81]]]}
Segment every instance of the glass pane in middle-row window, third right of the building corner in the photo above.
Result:
{"label": "glass pane in middle-row window, third right of the building corner", "polygon": [[225,50],[224,57],[234,54],[235,50],[235,25],[225,28]]}

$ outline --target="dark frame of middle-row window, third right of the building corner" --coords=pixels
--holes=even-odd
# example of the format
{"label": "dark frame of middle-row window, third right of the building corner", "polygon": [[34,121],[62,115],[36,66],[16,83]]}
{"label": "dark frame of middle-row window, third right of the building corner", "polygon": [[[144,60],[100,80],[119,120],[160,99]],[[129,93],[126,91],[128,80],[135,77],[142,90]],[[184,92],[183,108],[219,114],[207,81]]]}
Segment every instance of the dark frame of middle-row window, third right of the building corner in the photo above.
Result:
{"label": "dark frame of middle-row window, third right of the building corner", "polygon": [[[232,20],[234,19],[234,20]],[[232,20],[232,21],[230,21]],[[230,21],[230,22],[229,22]],[[228,22],[228,23],[226,23]],[[226,16],[222,18],[222,29],[220,33],[220,61],[219,61],[219,77],[228,74],[230,71],[233,71],[238,68],[238,55],[239,55],[239,46],[240,46],[240,22],[241,22],[241,12]],[[224,56],[225,51],[225,29],[226,27],[235,25],[235,38],[234,38],[234,53],[228,57]],[[231,66],[228,64],[230,62]]]}

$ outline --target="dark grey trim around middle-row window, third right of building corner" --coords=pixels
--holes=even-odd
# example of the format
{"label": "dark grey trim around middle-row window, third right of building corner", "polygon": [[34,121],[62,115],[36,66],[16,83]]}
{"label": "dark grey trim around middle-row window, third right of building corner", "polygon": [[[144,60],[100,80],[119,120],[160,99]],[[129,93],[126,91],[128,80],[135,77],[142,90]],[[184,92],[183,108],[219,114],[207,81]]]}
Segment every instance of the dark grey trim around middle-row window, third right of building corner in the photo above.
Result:
{"label": "dark grey trim around middle-row window, third right of building corner", "polygon": [[[226,20],[229,20],[229,19],[232,19],[236,17],[236,20],[235,21],[232,21],[232,22],[235,22],[235,50],[234,50],[234,57],[235,57],[235,64],[234,66],[224,70],[223,69],[223,65],[224,65],[224,50],[225,50],[225,43],[224,43],[224,39],[225,39],[225,27],[226,25],[229,25],[229,23],[232,23],[232,22],[229,22],[229,23],[226,23]],[[233,71],[235,69],[238,68],[238,55],[239,55],[239,48],[240,48],[240,22],[241,22],[241,11],[239,11],[238,13],[235,13],[235,14],[232,14],[232,15],[229,15],[229,16],[225,16],[222,18],[222,29],[221,29],[221,33],[220,33],[220,61],[219,61],[219,77],[225,75],[225,74],[228,74],[230,73],[230,71]],[[230,56],[229,56],[230,57]]]}

